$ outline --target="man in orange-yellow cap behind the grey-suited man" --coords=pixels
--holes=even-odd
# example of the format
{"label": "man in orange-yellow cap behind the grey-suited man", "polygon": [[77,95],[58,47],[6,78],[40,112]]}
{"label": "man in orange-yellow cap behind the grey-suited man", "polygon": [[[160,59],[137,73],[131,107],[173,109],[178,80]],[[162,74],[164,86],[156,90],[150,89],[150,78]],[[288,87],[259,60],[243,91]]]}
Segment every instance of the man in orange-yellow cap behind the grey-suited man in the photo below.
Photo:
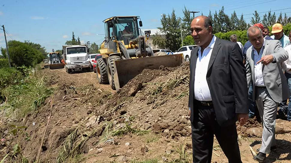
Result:
{"label": "man in orange-yellow cap behind the grey-suited man", "polygon": [[271,36],[272,39],[279,40],[282,44],[282,47],[286,47],[289,42],[289,37],[284,35],[283,26],[280,23],[273,25],[271,33],[274,34]]}

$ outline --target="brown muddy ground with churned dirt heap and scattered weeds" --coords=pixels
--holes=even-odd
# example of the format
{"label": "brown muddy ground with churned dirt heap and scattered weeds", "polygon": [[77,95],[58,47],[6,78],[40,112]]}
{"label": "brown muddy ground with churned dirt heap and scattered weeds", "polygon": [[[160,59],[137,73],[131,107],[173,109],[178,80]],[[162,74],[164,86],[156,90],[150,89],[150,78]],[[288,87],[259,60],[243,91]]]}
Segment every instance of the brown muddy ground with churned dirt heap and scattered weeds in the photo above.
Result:
{"label": "brown muddy ground with churned dirt heap and scattered weeds", "polygon": [[[118,91],[98,84],[94,72],[42,71],[54,94],[38,112],[1,122],[0,158],[13,150],[9,125],[17,124],[28,127],[31,139],[21,144],[29,162],[40,148],[40,162],[191,162],[189,64],[144,70]],[[266,162],[291,162],[291,123],[277,120],[276,128],[277,149]],[[238,126],[243,162],[255,162],[250,147],[260,147],[261,131],[253,119]],[[227,162],[216,140],[213,149],[212,162]]]}

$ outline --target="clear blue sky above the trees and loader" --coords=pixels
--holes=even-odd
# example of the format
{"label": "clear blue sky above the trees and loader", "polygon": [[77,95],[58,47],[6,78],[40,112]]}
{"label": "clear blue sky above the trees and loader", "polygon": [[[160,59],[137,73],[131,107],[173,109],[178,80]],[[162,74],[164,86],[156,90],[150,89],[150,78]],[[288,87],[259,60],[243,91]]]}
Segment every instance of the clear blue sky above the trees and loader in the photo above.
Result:
{"label": "clear blue sky above the trees and loader", "polygon": [[[108,3],[110,2],[110,3]],[[174,9],[177,16],[183,17],[184,5],[190,11],[200,11],[195,16],[208,15],[219,10],[222,6],[230,14],[235,10],[237,15],[243,13],[245,20],[250,21],[254,10],[265,12],[275,11],[276,14],[286,12],[291,16],[291,5],[287,0],[223,0],[223,1],[69,1],[69,0],[1,0],[0,25],[10,33],[8,41],[30,40],[46,47],[48,52],[52,48],[61,49],[65,41],[70,40],[72,31],[76,38],[91,43],[101,44],[104,40],[104,19],[111,16],[137,15],[143,21],[142,29],[152,29],[160,26],[161,14],[171,13]],[[289,6],[288,6],[289,5]],[[263,16],[262,13],[260,16]],[[277,15],[279,16],[279,15]],[[246,19],[249,18],[249,19]],[[99,35],[97,35],[99,34]],[[0,47],[5,47],[3,31],[0,31]]]}

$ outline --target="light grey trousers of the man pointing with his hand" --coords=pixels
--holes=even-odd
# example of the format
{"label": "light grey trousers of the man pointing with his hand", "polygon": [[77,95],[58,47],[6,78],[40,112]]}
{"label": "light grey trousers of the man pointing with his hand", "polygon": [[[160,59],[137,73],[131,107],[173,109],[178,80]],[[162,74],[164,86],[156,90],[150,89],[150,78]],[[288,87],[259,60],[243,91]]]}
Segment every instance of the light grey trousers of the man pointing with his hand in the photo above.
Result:
{"label": "light grey trousers of the man pointing with his hand", "polygon": [[274,102],[266,87],[256,87],[256,104],[263,125],[260,152],[270,153],[270,148],[276,145],[275,124],[278,103]]}

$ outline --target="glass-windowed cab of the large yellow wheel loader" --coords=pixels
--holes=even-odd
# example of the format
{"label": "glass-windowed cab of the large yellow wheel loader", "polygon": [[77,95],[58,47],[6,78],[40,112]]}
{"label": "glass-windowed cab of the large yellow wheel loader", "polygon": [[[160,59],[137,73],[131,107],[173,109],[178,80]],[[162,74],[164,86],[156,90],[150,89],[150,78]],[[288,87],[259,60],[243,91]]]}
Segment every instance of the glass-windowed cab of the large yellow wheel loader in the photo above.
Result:
{"label": "glass-windowed cab of the large yellow wheel loader", "polygon": [[[111,17],[104,20],[105,41],[112,52],[116,51],[116,41],[123,41],[125,45],[140,35],[137,20],[139,16]],[[139,24],[142,26],[142,22]]]}

